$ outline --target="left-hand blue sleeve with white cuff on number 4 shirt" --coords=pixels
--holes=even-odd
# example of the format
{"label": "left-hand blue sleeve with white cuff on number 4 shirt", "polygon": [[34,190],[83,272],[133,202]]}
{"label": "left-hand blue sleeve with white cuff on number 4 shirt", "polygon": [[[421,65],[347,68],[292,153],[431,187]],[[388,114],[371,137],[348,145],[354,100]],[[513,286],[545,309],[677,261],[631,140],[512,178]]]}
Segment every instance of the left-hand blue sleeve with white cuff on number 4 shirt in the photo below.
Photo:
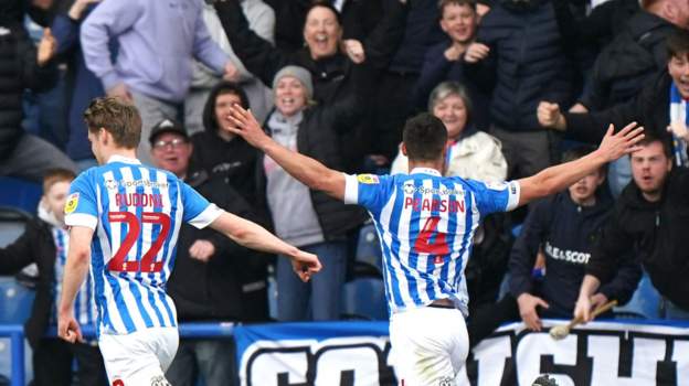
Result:
{"label": "left-hand blue sleeve with white cuff on number 4 shirt", "polygon": [[383,207],[393,181],[390,175],[377,174],[347,174],[344,180],[344,203],[361,205],[371,212]]}

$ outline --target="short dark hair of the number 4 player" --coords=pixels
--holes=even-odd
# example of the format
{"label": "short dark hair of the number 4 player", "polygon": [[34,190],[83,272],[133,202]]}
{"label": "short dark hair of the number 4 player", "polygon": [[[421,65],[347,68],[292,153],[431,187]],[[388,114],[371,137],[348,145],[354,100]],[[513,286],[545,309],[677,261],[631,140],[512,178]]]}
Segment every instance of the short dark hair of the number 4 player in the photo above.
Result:
{"label": "short dark hair of the number 4 player", "polygon": [[435,161],[447,143],[447,129],[435,116],[422,112],[404,124],[402,138],[410,161]]}

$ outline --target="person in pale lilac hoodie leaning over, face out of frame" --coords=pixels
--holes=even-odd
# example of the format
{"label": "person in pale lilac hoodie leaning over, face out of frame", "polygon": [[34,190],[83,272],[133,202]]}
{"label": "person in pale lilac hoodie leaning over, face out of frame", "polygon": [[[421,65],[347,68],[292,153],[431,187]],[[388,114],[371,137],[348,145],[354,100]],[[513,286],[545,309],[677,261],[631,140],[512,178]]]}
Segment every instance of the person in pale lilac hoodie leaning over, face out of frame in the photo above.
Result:
{"label": "person in pale lilac hoodie leaning over, face out of frame", "polygon": [[[236,67],[209,35],[201,1],[104,0],[81,30],[86,66],[108,96],[134,101],[141,114],[141,138],[153,125],[176,118],[189,92],[192,57],[227,78]],[[108,43],[119,52],[110,58]],[[151,162],[150,143],[141,141],[137,156]]]}

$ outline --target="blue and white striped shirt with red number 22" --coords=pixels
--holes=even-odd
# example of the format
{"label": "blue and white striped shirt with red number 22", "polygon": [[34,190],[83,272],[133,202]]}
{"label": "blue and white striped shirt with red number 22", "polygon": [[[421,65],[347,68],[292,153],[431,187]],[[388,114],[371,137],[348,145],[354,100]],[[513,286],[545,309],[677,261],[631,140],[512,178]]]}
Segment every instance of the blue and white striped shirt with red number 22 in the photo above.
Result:
{"label": "blue and white striped shirt with red number 22", "polygon": [[65,223],[95,230],[93,277],[98,335],[177,326],[165,286],[182,222],[202,228],[222,213],[167,171],[119,156],[72,182]]}

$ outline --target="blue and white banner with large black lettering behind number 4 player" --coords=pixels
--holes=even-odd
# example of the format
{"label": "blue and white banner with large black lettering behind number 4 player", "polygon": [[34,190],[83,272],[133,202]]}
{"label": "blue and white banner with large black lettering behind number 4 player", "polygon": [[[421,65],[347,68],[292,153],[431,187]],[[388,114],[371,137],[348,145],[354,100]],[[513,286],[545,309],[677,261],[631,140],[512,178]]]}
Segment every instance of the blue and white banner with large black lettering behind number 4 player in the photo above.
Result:
{"label": "blue and white banner with large black lettering behind number 4 player", "polygon": [[[554,341],[522,323],[500,328],[471,353],[457,386],[530,386],[550,374],[559,386],[689,386],[689,324],[593,322]],[[386,322],[237,326],[245,386],[395,385]]]}

